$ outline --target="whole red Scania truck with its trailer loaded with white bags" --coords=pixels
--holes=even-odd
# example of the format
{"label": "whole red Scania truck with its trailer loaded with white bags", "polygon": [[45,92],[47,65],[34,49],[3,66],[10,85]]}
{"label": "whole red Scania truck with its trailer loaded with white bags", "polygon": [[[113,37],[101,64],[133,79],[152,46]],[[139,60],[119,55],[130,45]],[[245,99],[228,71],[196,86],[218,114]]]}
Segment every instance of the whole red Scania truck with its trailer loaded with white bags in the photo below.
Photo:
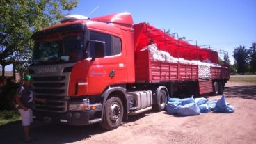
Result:
{"label": "whole red Scania truck with its trailer loaded with white bags", "polygon": [[216,51],[133,23],[130,13],[70,15],[35,32],[29,73],[47,103],[33,102],[33,118],[110,130],[128,115],[163,111],[170,95],[222,92],[229,67]]}

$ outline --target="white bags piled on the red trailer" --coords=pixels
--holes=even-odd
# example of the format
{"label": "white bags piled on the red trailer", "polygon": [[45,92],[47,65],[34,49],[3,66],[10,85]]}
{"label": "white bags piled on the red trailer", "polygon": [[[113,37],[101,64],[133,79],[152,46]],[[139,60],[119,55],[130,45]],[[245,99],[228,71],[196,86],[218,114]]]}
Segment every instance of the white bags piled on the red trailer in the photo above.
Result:
{"label": "white bags piled on the red trailer", "polygon": [[167,61],[169,63],[184,63],[189,65],[198,65],[198,77],[201,79],[210,79],[211,78],[211,67],[221,67],[221,65],[216,63],[206,63],[195,60],[186,60],[184,58],[174,58],[166,51],[161,51],[157,49],[156,44],[148,45],[141,49],[141,51],[148,50],[150,51],[150,58],[153,61]]}

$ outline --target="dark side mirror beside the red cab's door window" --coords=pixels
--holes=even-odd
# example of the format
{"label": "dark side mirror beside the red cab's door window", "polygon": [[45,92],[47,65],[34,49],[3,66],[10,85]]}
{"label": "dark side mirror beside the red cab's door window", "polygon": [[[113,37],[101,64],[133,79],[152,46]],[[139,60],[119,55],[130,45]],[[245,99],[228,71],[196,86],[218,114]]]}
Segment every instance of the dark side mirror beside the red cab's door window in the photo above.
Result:
{"label": "dark side mirror beside the red cab's door window", "polygon": [[106,47],[105,42],[98,41],[98,40],[88,40],[88,42],[90,42],[90,45],[94,45],[93,47],[94,56],[92,57],[93,60],[95,58],[103,58],[105,56],[105,52],[104,52],[104,49]]}

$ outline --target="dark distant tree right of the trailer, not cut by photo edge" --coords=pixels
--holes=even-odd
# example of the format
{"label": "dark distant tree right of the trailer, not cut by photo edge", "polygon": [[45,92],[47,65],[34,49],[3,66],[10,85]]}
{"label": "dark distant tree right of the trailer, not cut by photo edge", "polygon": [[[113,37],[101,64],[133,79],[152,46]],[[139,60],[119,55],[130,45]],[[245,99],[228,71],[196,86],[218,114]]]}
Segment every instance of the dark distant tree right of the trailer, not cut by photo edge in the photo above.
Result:
{"label": "dark distant tree right of the trailer, not cut by photo edge", "polygon": [[237,63],[237,73],[244,74],[248,65],[248,49],[242,45],[234,48],[233,57]]}

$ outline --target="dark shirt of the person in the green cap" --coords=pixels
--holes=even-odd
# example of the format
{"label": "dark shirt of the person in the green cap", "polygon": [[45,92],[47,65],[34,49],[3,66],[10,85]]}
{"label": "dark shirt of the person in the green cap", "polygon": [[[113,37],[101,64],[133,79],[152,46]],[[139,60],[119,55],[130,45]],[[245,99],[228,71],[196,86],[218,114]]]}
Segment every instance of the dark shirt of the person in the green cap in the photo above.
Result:
{"label": "dark shirt of the person in the green cap", "polygon": [[22,104],[32,109],[33,90],[31,86],[22,85],[17,89],[17,95],[21,95]]}

